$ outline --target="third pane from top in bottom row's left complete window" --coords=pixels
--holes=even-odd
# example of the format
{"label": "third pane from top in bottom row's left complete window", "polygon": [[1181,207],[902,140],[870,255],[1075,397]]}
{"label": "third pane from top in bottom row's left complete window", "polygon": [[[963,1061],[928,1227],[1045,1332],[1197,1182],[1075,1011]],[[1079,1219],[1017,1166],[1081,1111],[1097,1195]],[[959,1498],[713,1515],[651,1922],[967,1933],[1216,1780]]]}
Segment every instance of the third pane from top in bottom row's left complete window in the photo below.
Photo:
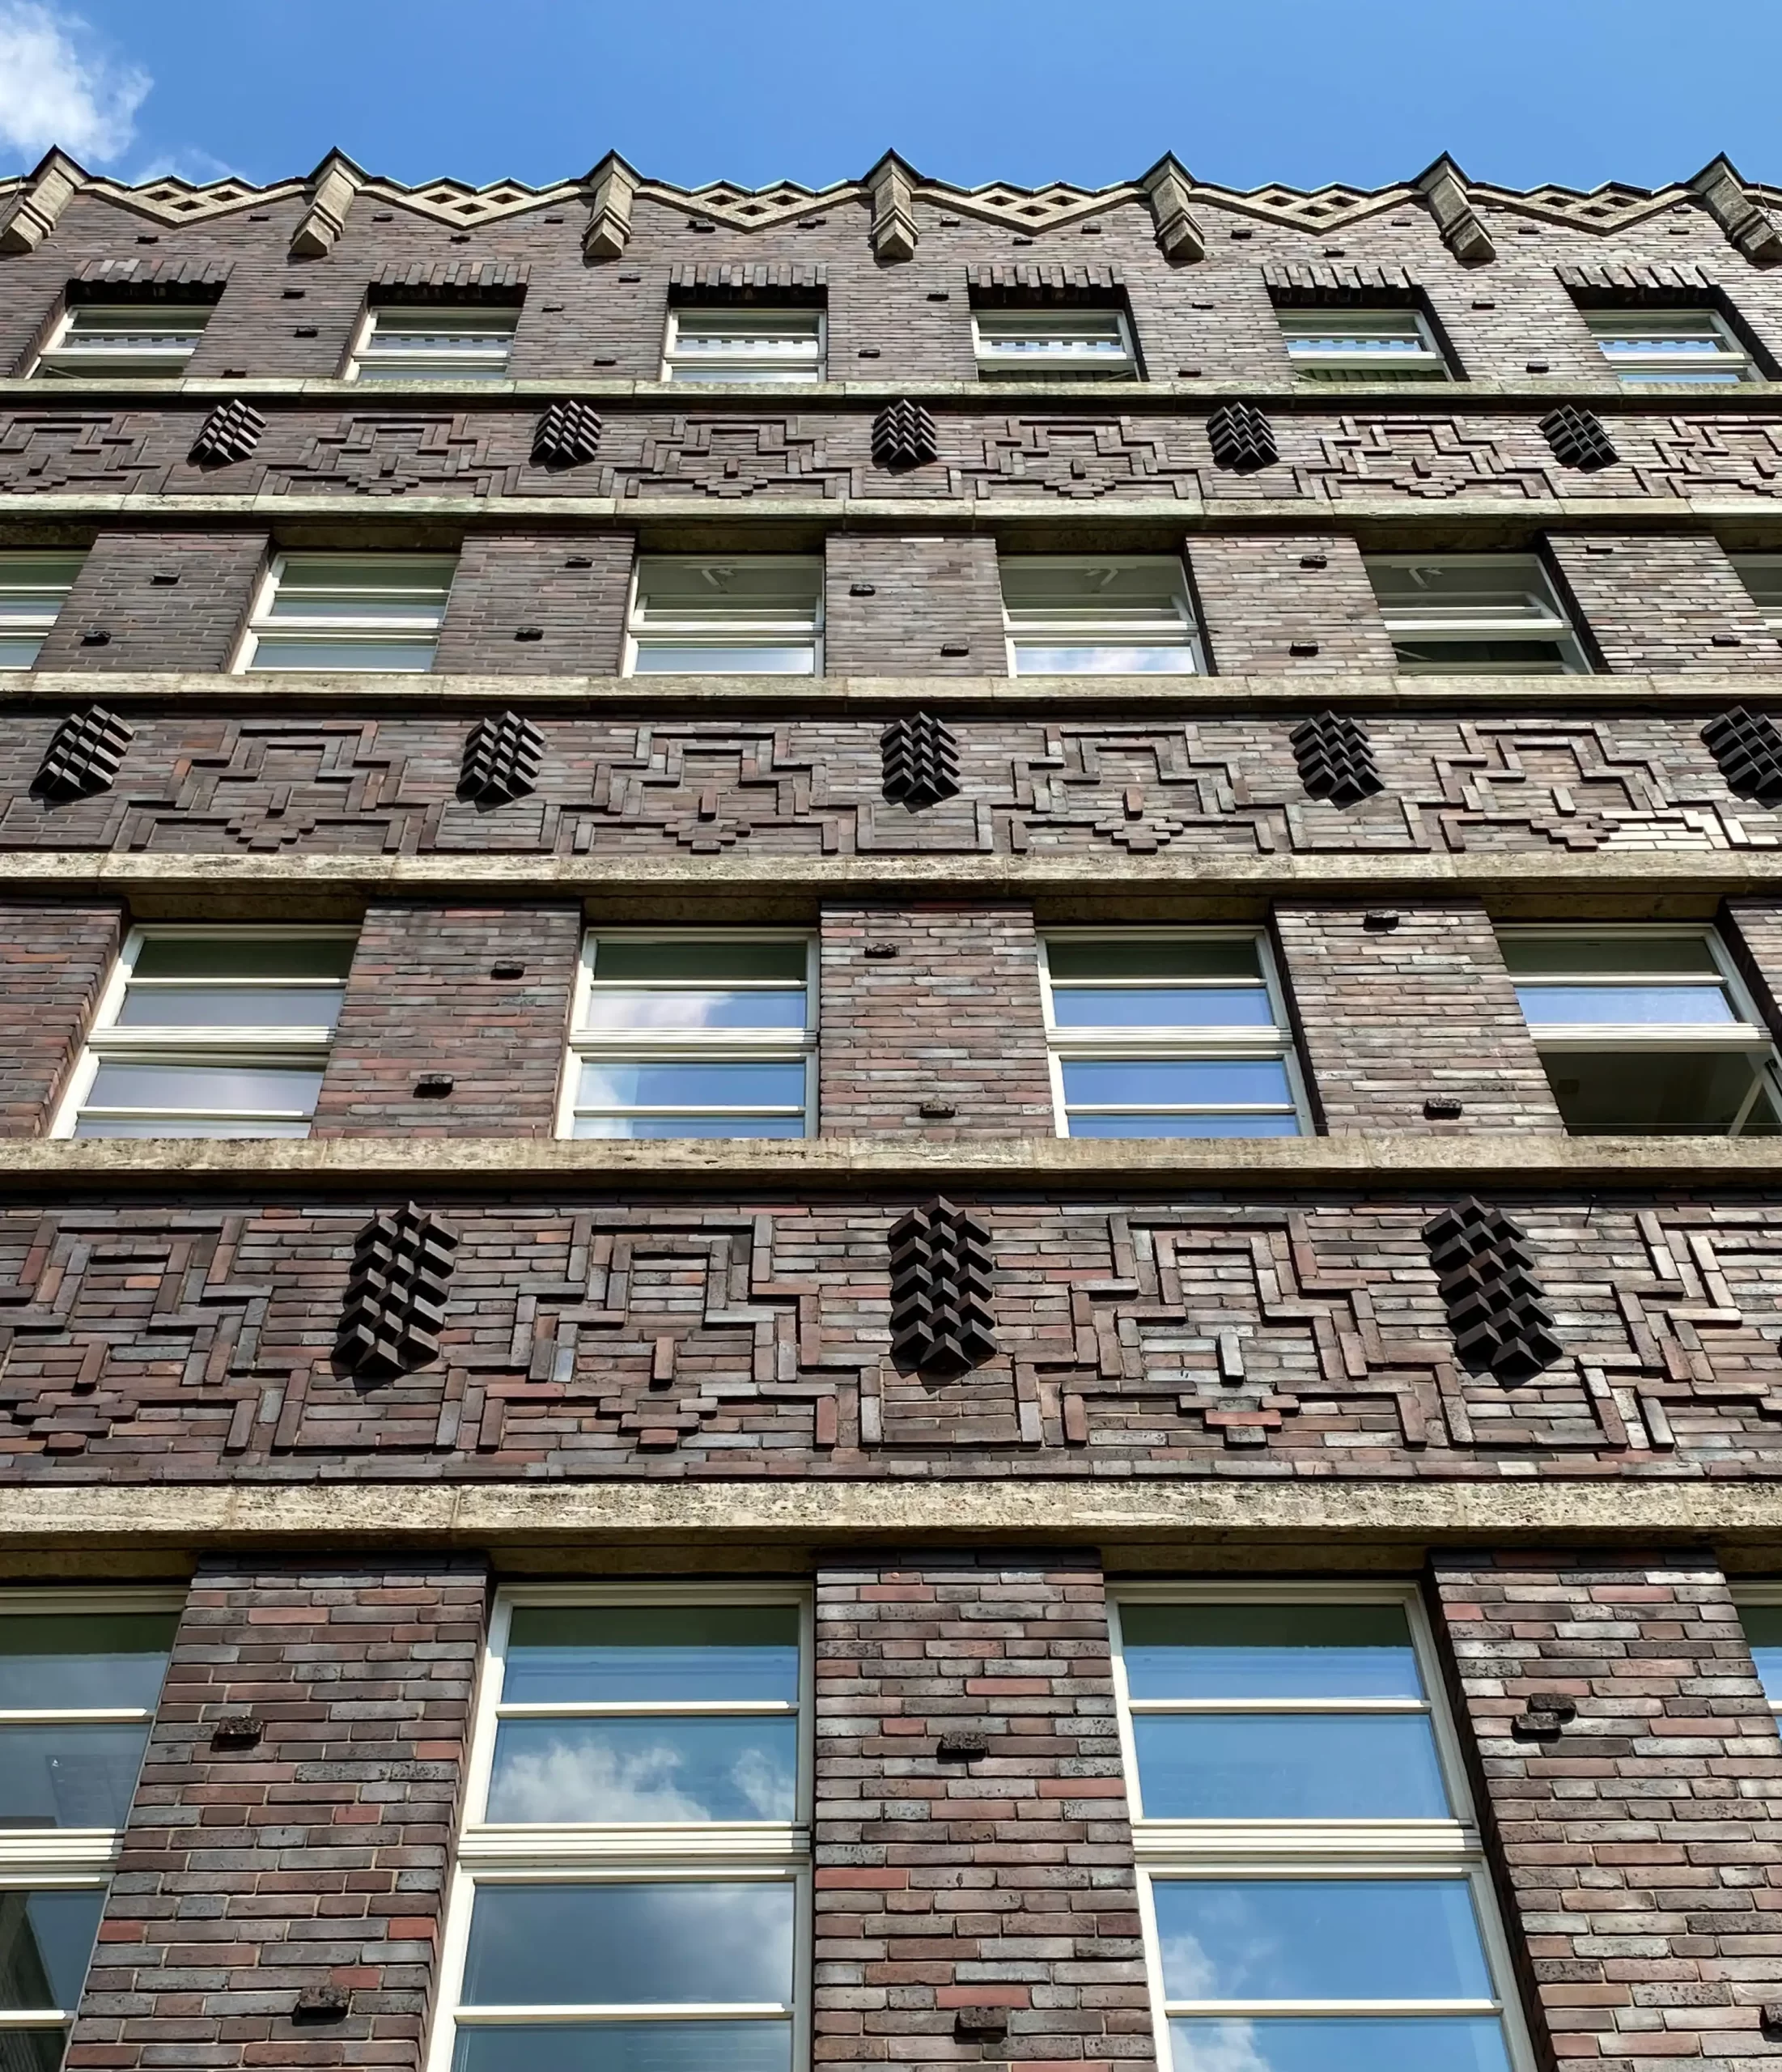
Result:
{"label": "third pane from top in bottom row's left complete window", "polygon": [[483,1886],[464,2002],[495,2008],[792,1999],[792,1883]]}

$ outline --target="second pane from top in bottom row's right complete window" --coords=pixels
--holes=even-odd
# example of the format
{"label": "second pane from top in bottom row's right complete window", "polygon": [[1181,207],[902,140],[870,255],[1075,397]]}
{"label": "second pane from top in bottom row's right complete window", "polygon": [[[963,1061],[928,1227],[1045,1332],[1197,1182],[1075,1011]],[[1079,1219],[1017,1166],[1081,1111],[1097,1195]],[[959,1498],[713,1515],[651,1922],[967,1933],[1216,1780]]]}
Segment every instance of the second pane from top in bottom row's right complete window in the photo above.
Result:
{"label": "second pane from top in bottom row's right complete window", "polygon": [[1140,1714],[1146,1819],[1444,1819],[1424,1714]]}

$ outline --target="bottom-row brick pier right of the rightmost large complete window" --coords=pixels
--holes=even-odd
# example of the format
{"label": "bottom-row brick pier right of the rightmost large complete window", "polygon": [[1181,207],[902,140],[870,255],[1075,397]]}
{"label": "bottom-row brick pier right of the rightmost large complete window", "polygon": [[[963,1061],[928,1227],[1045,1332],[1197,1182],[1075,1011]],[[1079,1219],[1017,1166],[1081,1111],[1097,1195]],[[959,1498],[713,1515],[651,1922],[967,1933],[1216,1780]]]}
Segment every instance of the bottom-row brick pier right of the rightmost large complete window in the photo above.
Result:
{"label": "bottom-row brick pier right of the rightmost large complete window", "polygon": [[[1726,1579],[1693,1556],[1498,1552],[1438,1558],[1434,1591],[1556,2057],[1767,2072],[1782,1745]],[[1558,1730],[1531,1732],[1556,1701]]]}

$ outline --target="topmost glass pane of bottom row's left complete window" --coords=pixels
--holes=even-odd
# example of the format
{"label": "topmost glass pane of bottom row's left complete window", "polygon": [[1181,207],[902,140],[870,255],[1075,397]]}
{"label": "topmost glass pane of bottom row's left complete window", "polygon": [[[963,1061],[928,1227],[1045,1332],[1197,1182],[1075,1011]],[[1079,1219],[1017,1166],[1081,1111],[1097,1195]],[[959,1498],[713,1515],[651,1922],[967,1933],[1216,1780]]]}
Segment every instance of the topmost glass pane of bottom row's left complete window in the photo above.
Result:
{"label": "topmost glass pane of bottom row's left complete window", "polygon": [[798,1699],[794,1604],[514,1608],[510,1705]]}

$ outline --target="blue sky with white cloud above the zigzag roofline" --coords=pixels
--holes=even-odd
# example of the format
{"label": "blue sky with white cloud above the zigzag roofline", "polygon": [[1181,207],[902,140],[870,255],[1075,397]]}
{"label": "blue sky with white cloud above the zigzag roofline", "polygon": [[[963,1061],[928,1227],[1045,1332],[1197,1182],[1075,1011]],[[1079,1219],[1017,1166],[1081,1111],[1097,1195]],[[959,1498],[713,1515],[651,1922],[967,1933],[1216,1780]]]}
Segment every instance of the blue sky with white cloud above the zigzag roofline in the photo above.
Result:
{"label": "blue sky with white cloud above the zigzag roofline", "polygon": [[1782,182],[1782,0],[0,0],[0,164],[696,184]]}

